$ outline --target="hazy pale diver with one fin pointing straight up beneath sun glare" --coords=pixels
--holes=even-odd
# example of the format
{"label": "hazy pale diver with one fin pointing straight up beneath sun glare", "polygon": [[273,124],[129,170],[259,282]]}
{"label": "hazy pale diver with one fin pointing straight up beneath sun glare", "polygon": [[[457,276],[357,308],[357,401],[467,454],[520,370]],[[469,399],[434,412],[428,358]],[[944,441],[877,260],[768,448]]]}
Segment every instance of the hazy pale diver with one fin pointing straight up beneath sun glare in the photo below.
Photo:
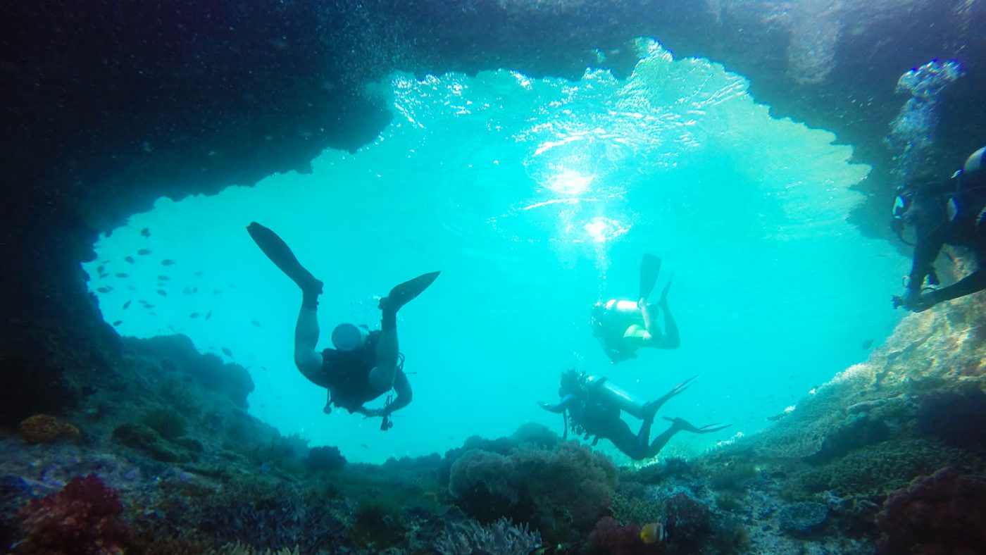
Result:
{"label": "hazy pale diver with one fin pointing straight up beneath sun glare", "polygon": [[[661,258],[644,254],[640,261],[640,294],[637,301],[612,299],[605,303],[599,301],[593,307],[590,318],[593,335],[599,338],[602,350],[613,364],[637,358],[637,349],[641,347],[677,349],[681,345],[677,324],[668,308],[673,273],[661,292],[661,300],[656,305],[647,302],[660,273]],[[665,313],[664,333],[655,321],[659,311]]]}

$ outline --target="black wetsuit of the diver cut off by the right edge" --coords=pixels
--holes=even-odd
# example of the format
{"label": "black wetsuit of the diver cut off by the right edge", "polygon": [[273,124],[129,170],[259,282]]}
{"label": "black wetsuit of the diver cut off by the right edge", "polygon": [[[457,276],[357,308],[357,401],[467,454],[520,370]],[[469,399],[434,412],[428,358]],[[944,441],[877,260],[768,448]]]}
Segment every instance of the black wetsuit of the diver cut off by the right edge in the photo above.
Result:
{"label": "black wetsuit of the diver cut off by the right edge", "polygon": [[[956,283],[930,293],[936,303],[986,289],[986,172],[964,174],[959,179],[951,200],[949,195],[941,192],[919,194],[912,208],[917,243],[908,277],[909,287],[915,290],[923,287],[945,244],[971,247],[979,266]],[[950,211],[953,212],[951,218]]]}

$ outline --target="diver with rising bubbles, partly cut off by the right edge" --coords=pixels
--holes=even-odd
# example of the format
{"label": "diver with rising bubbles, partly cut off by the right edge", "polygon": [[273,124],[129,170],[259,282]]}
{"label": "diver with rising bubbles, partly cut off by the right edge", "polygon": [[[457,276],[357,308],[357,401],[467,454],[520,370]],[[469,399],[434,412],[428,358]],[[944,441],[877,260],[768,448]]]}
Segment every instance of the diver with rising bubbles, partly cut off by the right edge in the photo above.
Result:
{"label": "diver with rising bubbles, partly cut off by the right edge", "polygon": [[[904,293],[893,297],[893,308],[902,306],[908,311],[924,312],[943,301],[986,289],[984,166],[986,147],[972,153],[945,184],[925,177],[898,188],[891,225],[899,236],[904,224],[913,224],[917,241]],[[933,264],[945,244],[971,247],[978,267],[956,283],[935,289],[939,280]]]}

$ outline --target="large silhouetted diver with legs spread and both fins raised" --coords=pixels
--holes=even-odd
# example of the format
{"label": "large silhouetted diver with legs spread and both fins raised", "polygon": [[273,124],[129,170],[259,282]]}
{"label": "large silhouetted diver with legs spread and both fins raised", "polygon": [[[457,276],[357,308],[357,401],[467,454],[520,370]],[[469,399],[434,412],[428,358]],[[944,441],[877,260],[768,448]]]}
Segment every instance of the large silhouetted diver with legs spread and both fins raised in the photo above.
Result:
{"label": "large silhouetted diver with legs spread and both fins raised", "polygon": [[[390,429],[390,414],[411,402],[411,385],[403,371],[404,357],[397,348],[397,311],[427,289],[439,272],[418,276],[391,289],[380,300],[382,329],[371,331],[365,325],[340,323],[332,330],[335,348],[319,353],[316,311],[322,283],[274,232],[256,222],[246,231],[270,261],[302,289],[302,308],[295,327],[295,366],[309,381],[328,389],[325,414],[335,405],[367,418],[383,417],[380,429]],[[396,397],[391,399],[388,395],[383,408],[363,406],[390,389]]]}

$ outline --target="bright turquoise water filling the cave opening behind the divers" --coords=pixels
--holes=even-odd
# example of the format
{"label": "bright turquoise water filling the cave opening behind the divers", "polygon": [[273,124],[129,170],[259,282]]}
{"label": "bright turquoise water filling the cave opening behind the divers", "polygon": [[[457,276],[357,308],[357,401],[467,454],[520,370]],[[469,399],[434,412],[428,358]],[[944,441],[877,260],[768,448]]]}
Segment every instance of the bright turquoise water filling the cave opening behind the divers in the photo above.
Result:
{"label": "bright turquoise water filling the cave opening behind the divers", "polygon": [[[375,92],[394,111],[376,142],[324,152],[313,173],[159,200],[100,240],[90,287],[112,288],[100,306],[121,334],[184,333],[246,366],[252,414],[354,461],[443,452],[531,421],[561,433],[535,401],[556,400],[573,366],[643,396],[700,375],[661,414],[734,426],[681,434],[662,456],[752,433],[890,333],[907,262],[845,223],[869,172],[850,147],[772,119],[719,65],[648,48],[625,83],[395,75]],[[319,347],[337,322],[379,326],[379,296],[442,270],[399,314],[414,402],[391,431],[322,414],[325,390],[292,362],[301,294],[250,241],[251,221],[325,282]],[[658,287],[675,272],[682,345],[612,366],[589,312],[635,295],[645,251],[664,259]]]}

